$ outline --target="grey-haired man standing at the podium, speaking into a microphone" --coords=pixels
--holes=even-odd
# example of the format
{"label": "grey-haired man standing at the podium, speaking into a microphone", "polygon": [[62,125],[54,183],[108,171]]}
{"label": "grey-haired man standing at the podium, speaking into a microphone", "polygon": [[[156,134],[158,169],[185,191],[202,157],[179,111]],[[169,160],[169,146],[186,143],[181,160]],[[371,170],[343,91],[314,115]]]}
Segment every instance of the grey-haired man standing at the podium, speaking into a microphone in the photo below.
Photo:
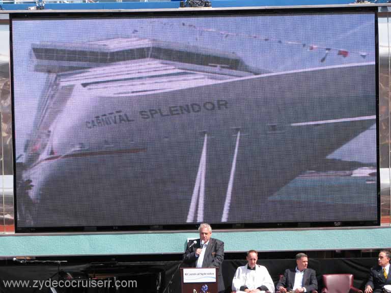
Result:
{"label": "grey-haired man standing at the podium, speaking into a microphone", "polygon": [[218,291],[224,291],[221,263],[224,260],[224,242],[211,238],[212,227],[202,223],[198,228],[200,239],[189,241],[183,262],[193,268],[218,268]]}

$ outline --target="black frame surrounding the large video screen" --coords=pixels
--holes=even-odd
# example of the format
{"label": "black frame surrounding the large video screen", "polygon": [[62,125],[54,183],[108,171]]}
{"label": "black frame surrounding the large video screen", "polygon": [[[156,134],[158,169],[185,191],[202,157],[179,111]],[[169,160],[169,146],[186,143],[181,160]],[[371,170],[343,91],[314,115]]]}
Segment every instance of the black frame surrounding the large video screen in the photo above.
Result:
{"label": "black frame surrounding the large video screen", "polygon": [[133,10],[133,11],[38,11],[10,13],[10,78],[11,78],[11,101],[12,101],[12,129],[13,129],[13,163],[14,163],[14,211],[15,211],[15,232],[36,233],[36,232],[94,232],[94,231],[162,231],[162,230],[189,230],[199,224],[174,224],[174,225],[131,225],[131,226],[69,226],[69,227],[19,227],[17,217],[17,190],[16,190],[16,142],[15,142],[15,112],[14,112],[14,74],[13,74],[13,44],[12,25],[14,20],[50,20],[50,19],[87,19],[87,18],[182,18],[182,17],[208,17],[208,16],[264,16],[264,15],[302,15],[302,14],[357,14],[373,13],[375,18],[375,95],[376,95],[376,158],[377,158],[377,220],[376,221],[344,221],[344,222],[289,222],[289,223],[217,223],[213,228],[217,229],[265,229],[265,228],[308,228],[308,227],[341,227],[341,226],[378,226],[380,225],[380,154],[379,154],[379,41],[378,41],[378,10],[375,6],[370,7],[327,7],[327,8],[230,8],[230,9],[157,9],[157,10]]}

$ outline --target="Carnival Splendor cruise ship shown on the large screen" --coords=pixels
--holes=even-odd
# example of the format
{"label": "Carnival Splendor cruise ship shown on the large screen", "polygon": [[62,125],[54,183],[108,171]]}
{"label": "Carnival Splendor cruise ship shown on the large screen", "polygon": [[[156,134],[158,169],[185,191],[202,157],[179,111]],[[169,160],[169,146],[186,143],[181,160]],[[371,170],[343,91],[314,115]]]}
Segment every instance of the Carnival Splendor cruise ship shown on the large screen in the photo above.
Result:
{"label": "Carnival Splendor cruise ship shown on the large screen", "polygon": [[273,73],[143,38],[32,51],[47,83],[20,227],[245,223],[249,201],[271,209],[274,192],[375,123],[374,62]]}

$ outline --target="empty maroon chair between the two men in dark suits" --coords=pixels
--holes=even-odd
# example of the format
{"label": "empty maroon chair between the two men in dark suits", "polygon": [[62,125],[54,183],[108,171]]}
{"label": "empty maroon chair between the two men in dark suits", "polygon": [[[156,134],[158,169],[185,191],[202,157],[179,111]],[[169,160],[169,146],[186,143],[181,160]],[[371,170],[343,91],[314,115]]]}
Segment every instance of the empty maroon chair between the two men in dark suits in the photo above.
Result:
{"label": "empty maroon chair between the two men in dark suits", "polygon": [[323,275],[321,293],[362,293],[360,289],[353,287],[352,274],[328,274]]}

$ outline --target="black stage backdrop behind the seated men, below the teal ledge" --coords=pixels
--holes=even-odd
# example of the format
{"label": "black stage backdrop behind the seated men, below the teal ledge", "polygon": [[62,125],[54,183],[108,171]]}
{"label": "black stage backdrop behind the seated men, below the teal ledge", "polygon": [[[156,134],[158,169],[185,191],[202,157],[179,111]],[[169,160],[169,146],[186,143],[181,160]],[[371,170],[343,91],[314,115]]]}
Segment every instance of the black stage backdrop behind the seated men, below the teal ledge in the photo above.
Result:
{"label": "black stage backdrop behind the seated men, below the teal ledge", "polygon": [[[245,255],[243,253],[243,255]],[[120,288],[119,292],[142,292],[142,293],[161,293],[169,284],[174,272],[177,271],[181,261],[160,261],[160,262],[105,262],[95,264],[74,264],[61,267],[61,273],[58,274],[56,265],[34,265],[34,264],[16,264],[0,266],[0,289],[7,293],[33,293],[33,292],[50,292],[49,288],[21,288],[5,287],[6,281],[25,280],[33,284],[34,280],[41,282],[48,279],[72,280],[72,278],[87,278],[95,276],[96,280],[136,280],[137,287],[131,289]],[[236,268],[243,266],[245,260],[225,260],[222,264],[222,273],[227,292],[231,289],[232,278]],[[260,265],[266,266],[274,283],[278,281],[278,276],[283,274],[285,269],[294,268],[296,262],[294,259],[267,259],[259,260]],[[322,274],[350,273],[354,275],[354,286],[364,289],[369,269],[377,264],[376,258],[340,258],[340,259],[311,259],[309,268],[315,269],[319,283],[319,291],[322,288]],[[168,292],[180,292],[180,275],[179,272],[174,276],[173,284]],[[76,290],[63,290],[60,292],[85,292],[79,288]],[[85,288],[84,288],[85,289]],[[121,291],[122,290],[122,291]],[[98,288],[90,287],[87,292],[98,292]],[[99,291],[100,292],[100,291]],[[105,291],[106,292],[106,291]],[[109,291],[107,291],[109,292]],[[117,292],[117,291],[115,291]]]}

